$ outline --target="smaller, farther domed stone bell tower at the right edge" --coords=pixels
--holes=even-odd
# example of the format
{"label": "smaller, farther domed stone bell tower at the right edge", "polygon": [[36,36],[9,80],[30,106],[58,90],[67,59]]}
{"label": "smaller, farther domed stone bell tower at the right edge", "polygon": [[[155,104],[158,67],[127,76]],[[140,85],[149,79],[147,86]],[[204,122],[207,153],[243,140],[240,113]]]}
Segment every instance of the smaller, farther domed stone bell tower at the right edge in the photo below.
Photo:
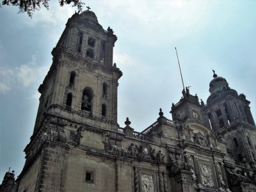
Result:
{"label": "smaller, farther domed stone bell tower at the right edge", "polygon": [[228,86],[227,80],[217,76],[209,84],[211,95],[204,111],[211,128],[228,143],[228,153],[237,164],[256,168],[256,127],[246,96]]}

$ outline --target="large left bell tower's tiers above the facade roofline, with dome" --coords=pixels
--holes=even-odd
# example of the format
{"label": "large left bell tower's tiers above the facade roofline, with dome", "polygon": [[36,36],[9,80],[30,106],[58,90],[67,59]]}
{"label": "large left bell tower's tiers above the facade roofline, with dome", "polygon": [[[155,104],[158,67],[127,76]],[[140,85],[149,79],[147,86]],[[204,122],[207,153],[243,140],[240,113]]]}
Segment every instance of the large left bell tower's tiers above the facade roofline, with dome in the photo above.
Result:
{"label": "large left bell tower's tiers above the facade roofline, with dome", "polygon": [[105,31],[90,10],[75,13],[52,50],[52,66],[40,85],[35,131],[48,114],[104,129],[117,129],[117,87],[122,72],[113,65],[113,30]]}

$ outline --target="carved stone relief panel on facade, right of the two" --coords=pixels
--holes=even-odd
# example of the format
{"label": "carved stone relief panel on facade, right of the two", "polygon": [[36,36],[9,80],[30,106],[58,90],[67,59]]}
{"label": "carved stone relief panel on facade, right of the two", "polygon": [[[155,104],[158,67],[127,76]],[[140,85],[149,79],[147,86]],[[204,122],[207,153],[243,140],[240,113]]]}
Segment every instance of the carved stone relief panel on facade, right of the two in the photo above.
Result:
{"label": "carved stone relief panel on facade, right of the two", "polygon": [[212,188],[214,186],[212,180],[212,172],[209,164],[200,164],[201,177],[202,177],[202,185],[205,187]]}

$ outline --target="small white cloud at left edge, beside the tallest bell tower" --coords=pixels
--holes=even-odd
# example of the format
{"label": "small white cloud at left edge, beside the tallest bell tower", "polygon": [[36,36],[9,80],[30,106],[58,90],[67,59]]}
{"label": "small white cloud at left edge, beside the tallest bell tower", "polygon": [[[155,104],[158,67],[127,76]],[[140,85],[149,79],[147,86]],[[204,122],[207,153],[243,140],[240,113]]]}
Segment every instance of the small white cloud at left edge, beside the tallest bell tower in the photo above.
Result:
{"label": "small white cloud at left edge, beside the tallest bell tower", "polygon": [[47,74],[49,66],[39,66],[36,64],[36,56],[33,55],[31,61],[20,65],[14,69],[8,67],[0,67],[0,93],[7,93],[14,86],[22,86],[28,88],[31,84],[41,79]]}

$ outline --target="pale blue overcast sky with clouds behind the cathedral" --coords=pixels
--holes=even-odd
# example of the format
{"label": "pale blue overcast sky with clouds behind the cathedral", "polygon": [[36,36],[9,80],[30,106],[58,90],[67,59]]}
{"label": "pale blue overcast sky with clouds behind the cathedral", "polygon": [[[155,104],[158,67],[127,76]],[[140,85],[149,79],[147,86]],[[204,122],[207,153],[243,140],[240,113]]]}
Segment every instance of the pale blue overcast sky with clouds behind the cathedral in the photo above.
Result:
{"label": "pale blue overcast sky with clouds behind the cathedral", "polygon": [[[175,53],[185,86],[209,96],[212,68],[230,88],[251,101],[255,119],[256,1],[86,1],[104,29],[118,40],[114,62],[122,70],[118,86],[118,123],[127,116],[142,131],[164,116],[182,96]],[[37,89],[51,66],[52,48],[75,8],[52,1],[30,19],[12,6],[0,8],[0,180],[11,166],[24,165],[24,148],[33,132]],[[84,9],[85,10],[85,9]]]}

